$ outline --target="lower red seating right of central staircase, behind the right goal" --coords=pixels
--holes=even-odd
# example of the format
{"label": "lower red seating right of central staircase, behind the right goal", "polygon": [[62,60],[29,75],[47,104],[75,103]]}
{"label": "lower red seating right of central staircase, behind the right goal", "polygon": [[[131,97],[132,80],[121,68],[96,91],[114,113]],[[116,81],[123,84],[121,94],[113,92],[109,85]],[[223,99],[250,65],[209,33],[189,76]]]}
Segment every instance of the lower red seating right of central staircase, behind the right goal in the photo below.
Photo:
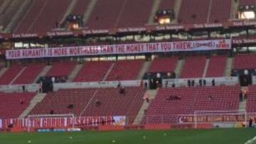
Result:
{"label": "lower red seating right of central staircase, behind the right goal", "polygon": [[[237,111],[239,93],[238,86],[159,89],[142,123],[178,123],[178,115],[194,111]],[[167,96],[181,96],[181,100],[167,100]]]}

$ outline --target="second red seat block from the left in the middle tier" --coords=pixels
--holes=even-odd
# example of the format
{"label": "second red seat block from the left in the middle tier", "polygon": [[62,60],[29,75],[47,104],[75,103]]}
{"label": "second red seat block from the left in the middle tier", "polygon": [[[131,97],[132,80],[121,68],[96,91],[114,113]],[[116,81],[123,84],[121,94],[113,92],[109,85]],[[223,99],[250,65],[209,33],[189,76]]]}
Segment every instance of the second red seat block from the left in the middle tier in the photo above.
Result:
{"label": "second red seat block from the left in the middle tier", "polygon": [[13,84],[31,84],[45,66],[43,63],[28,64]]}

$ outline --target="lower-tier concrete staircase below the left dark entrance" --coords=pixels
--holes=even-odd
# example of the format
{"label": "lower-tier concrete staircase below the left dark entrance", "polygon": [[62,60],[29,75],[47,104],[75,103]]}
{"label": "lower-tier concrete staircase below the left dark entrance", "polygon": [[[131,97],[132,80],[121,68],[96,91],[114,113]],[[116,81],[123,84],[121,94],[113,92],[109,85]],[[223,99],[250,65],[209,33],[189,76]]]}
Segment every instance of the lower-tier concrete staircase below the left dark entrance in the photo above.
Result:
{"label": "lower-tier concrete staircase below the left dark entrance", "polygon": [[36,94],[36,96],[33,97],[33,99],[31,99],[28,107],[23,111],[23,113],[21,113],[20,116],[18,116],[18,118],[25,118],[28,115],[28,113],[36,106],[36,104],[41,102],[45,97],[46,97],[46,94],[43,94],[43,93]]}

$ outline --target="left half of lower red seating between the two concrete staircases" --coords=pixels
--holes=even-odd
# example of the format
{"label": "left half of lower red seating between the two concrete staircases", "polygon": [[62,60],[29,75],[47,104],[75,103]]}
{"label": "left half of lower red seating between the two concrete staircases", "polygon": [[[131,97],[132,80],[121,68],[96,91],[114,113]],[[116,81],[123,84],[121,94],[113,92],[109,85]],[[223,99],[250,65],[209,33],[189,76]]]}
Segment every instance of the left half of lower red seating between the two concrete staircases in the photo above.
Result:
{"label": "left half of lower red seating between the two concrete staircases", "polygon": [[[59,89],[58,92],[48,93],[39,104],[32,109],[30,114],[55,114],[74,113],[80,116],[96,89]],[[73,104],[73,109],[68,106]]]}

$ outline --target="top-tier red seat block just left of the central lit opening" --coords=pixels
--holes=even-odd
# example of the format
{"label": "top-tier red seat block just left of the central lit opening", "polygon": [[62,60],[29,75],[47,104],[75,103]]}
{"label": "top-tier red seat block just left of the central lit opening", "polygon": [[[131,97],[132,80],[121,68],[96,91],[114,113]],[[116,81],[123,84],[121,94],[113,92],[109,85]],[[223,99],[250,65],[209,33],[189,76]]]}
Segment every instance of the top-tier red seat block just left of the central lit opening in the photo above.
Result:
{"label": "top-tier red seat block just left of the central lit opening", "polygon": [[128,0],[119,12],[117,27],[144,26],[149,21],[153,0]]}

